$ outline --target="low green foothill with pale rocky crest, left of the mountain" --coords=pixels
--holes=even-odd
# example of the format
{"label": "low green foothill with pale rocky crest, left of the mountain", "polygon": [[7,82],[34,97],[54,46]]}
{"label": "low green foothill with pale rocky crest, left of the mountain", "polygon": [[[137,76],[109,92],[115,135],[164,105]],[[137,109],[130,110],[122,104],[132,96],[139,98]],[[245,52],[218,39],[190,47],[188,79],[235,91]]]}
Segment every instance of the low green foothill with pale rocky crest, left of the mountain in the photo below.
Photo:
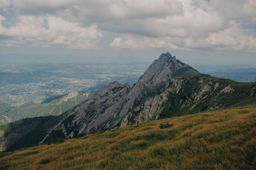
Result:
{"label": "low green foothill with pale rocky crest, left of the mountain", "polygon": [[67,95],[46,104],[24,104],[8,112],[8,117],[12,118],[12,120],[19,120],[20,118],[33,118],[36,116],[57,116],[86,100],[87,95],[78,92],[76,97],[63,100],[65,98],[67,98]]}

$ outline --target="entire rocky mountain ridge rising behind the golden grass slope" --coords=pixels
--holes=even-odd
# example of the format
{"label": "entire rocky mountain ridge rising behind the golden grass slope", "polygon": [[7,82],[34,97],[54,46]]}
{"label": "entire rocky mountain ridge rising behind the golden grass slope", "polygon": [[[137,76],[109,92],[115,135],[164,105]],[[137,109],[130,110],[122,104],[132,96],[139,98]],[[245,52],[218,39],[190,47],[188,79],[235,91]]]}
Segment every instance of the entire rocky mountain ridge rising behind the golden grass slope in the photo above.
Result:
{"label": "entire rocky mountain ridge rising behind the golden grass slope", "polygon": [[205,75],[161,54],[138,82],[111,82],[60,116],[28,118],[0,127],[1,150],[17,150],[132,125],[143,121],[214,111],[256,97],[256,83]]}

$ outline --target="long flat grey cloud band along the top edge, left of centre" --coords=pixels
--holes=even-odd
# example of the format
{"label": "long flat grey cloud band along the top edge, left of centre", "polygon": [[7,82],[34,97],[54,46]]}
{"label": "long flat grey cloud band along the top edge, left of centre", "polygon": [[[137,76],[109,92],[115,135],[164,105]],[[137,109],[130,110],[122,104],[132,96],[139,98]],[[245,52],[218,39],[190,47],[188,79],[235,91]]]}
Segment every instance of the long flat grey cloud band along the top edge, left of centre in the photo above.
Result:
{"label": "long flat grey cloud band along the top edge, left of centre", "polygon": [[22,14],[36,15],[42,13],[79,15],[94,22],[111,19],[133,19],[148,17],[166,17],[169,15],[182,15],[182,3],[171,1],[39,1],[14,0],[13,5]]}

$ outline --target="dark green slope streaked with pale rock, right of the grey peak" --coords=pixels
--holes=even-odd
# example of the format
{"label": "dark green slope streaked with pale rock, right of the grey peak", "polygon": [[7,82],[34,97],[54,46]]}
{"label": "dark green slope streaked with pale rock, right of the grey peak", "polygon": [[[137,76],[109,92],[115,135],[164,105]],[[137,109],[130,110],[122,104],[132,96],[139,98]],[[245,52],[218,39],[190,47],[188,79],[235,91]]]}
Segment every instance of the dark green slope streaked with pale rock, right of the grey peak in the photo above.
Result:
{"label": "dark green slope streaked with pale rock, right of the grey peak", "polygon": [[122,126],[195,112],[215,111],[256,97],[256,83],[217,77],[174,78],[130,112]]}

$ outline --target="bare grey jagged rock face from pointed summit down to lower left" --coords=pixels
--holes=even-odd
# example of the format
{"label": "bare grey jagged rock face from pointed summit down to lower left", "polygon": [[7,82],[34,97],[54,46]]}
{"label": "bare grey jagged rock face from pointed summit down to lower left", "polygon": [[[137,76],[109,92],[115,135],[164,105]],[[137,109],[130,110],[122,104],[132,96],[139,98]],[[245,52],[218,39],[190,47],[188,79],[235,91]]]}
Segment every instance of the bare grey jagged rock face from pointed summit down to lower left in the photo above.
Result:
{"label": "bare grey jagged rock face from pointed summit down to lower left", "polygon": [[62,133],[65,138],[72,138],[120,126],[125,116],[139,105],[143,98],[159,91],[173,77],[200,75],[202,73],[172,57],[169,52],[161,54],[134,86],[129,83],[122,85],[111,82],[95,91],[83,105],[67,114],[53,127],[40,143],[49,139],[54,131]]}

